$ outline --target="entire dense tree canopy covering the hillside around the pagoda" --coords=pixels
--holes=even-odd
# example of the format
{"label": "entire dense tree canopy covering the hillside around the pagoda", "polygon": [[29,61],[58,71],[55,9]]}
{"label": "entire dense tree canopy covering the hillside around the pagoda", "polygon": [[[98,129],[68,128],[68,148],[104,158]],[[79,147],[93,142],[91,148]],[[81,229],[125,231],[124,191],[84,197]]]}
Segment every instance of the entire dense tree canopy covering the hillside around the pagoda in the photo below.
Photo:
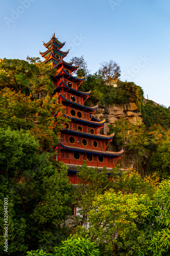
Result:
{"label": "entire dense tree canopy covering the hillside around the pagoda", "polygon": [[[145,102],[133,82],[107,86],[108,76],[120,75],[116,62],[103,62],[92,75],[83,56],[72,58],[79,65],[76,75],[85,76],[79,90],[91,90],[87,105],[136,102],[144,122],[120,119],[110,133],[115,133],[116,149],[124,148],[125,159],[134,155],[137,167],[147,162],[150,173],[142,179],[132,169],[122,172],[117,166],[108,173],[84,163],[74,187],[53,151],[68,121],[53,95],[54,69],[39,58],[27,60],[0,63],[0,225],[8,198],[8,254],[31,250],[29,255],[62,256],[71,248],[76,255],[169,255],[169,109]],[[72,204],[78,207],[77,218],[71,218]],[[4,255],[3,229],[0,241]]]}

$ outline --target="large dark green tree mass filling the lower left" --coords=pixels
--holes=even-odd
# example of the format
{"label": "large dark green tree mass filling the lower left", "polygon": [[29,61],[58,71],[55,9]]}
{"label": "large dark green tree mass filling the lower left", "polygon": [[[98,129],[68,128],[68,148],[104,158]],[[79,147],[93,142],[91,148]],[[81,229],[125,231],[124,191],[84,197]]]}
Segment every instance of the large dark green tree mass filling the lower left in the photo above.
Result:
{"label": "large dark green tree mass filling the lower left", "polygon": [[[29,131],[0,129],[0,224],[4,226],[4,198],[8,198],[8,253],[21,256],[37,247],[52,250],[67,236],[65,219],[74,200],[67,168],[53,154],[39,154]],[[0,231],[0,254],[4,234]],[[24,254],[25,255],[25,254]]]}

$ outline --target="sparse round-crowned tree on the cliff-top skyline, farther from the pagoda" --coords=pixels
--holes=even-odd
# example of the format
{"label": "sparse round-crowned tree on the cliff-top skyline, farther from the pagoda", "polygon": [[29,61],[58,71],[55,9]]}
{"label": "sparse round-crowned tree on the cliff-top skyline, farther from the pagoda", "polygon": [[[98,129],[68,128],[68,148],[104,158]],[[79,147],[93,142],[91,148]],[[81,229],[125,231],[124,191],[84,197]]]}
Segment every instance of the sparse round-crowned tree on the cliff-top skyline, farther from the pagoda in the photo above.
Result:
{"label": "sparse round-crowned tree on the cliff-top skyline, farther from the pagoda", "polygon": [[111,87],[111,80],[116,79],[120,76],[120,67],[112,59],[109,62],[102,62],[99,69],[99,73],[105,78],[105,81]]}

